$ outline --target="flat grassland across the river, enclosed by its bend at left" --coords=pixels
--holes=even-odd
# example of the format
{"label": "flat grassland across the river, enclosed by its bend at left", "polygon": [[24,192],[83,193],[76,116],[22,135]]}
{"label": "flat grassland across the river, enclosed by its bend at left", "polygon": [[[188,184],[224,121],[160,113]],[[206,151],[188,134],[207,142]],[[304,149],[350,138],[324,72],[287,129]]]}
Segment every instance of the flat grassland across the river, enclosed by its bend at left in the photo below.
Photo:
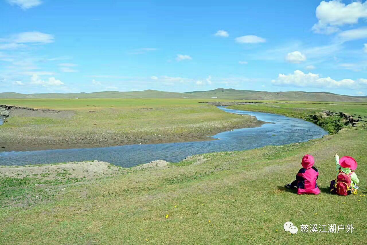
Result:
{"label": "flat grassland across the river, enclosed by its bend at left", "polygon": [[0,127],[0,149],[89,148],[209,140],[221,131],[262,124],[185,99],[0,99],[0,104],[49,108],[72,116],[22,111]]}

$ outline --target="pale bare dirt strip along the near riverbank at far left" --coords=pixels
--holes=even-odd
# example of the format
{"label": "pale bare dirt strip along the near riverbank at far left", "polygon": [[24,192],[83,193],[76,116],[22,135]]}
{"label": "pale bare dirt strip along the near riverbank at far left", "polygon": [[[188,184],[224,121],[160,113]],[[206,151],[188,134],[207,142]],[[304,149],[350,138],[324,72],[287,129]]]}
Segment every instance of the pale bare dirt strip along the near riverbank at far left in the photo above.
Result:
{"label": "pale bare dirt strip along the near riverbank at far left", "polygon": [[96,179],[124,173],[121,167],[107,162],[72,162],[62,164],[47,164],[40,166],[1,166],[0,177],[10,178],[38,178],[42,180],[57,179]]}

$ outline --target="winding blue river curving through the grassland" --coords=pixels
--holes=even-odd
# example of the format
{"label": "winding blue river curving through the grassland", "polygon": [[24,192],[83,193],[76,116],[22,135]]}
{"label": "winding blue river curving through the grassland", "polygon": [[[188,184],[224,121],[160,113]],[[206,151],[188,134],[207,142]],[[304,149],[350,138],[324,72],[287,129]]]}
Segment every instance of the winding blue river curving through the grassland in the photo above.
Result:
{"label": "winding blue river curving through the grassland", "polygon": [[0,152],[0,165],[25,165],[58,162],[99,160],[122,167],[132,167],[157,159],[179,162],[190,155],[242,151],[266,145],[284,145],[321,138],[326,130],[298,118],[252,111],[239,111],[218,107],[229,113],[256,116],[266,123],[261,127],[235,129],[219,133],[212,138],[220,140],[166,144],[122,145],[105,148],[59,149],[44,151]]}

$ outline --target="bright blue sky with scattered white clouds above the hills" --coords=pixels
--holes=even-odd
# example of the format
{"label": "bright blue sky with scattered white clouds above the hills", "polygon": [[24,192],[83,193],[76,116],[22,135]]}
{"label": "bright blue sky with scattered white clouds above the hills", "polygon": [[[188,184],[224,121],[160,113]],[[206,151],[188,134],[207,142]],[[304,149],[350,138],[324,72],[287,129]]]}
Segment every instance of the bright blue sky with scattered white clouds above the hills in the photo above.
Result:
{"label": "bright blue sky with scattered white clouds above the hills", "polygon": [[367,95],[367,1],[0,0],[0,92]]}

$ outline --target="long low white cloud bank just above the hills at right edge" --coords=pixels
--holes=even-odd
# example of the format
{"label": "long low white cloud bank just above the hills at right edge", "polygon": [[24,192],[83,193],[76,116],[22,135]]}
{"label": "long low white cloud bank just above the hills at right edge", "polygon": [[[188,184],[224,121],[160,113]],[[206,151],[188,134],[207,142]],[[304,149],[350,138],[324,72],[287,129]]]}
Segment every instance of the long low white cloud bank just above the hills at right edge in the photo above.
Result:
{"label": "long low white cloud bank just above the hills at right edge", "polygon": [[342,79],[336,81],[330,77],[323,78],[319,74],[305,74],[300,70],[296,70],[293,74],[279,74],[277,79],[272,80],[272,83],[280,86],[356,89],[366,86],[367,79]]}

